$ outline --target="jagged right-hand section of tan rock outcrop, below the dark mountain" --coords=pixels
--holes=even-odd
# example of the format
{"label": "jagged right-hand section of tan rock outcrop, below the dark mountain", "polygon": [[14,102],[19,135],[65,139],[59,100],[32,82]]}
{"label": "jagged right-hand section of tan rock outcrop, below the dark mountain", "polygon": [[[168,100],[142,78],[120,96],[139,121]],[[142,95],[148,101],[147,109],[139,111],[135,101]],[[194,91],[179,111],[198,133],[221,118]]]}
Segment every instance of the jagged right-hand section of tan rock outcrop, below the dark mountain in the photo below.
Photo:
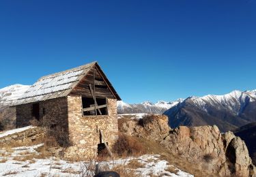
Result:
{"label": "jagged right-hand section of tan rock outcrop, below the dark mountain", "polygon": [[198,167],[220,176],[255,176],[244,141],[218,127],[179,127],[160,142]]}

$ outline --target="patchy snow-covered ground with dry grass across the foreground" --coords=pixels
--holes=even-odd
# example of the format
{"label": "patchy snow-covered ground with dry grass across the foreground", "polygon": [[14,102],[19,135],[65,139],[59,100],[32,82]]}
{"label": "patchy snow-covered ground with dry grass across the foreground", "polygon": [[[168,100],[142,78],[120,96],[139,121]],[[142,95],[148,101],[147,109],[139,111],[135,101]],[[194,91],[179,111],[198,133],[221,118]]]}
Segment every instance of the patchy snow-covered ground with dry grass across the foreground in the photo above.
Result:
{"label": "patchy snow-covered ground with dry grass across the foreground", "polygon": [[[44,144],[22,146],[11,150],[0,149],[0,176],[87,176],[88,172],[93,174],[92,171],[87,170],[88,162],[66,161],[55,157],[38,159],[37,155],[40,152],[37,149],[41,146]],[[35,158],[27,160],[23,158],[29,155],[35,155]],[[111,168],[122,165],[127,166],[129,170],[128,165],[131,161],[141,164],[137,168],[132,168],[139,176],[193,176],[169,165],[167,161],[160,159],[160,155],[116,159],[108,163]],[[169,167],[175,169],[175,174],[168,170]]]}

